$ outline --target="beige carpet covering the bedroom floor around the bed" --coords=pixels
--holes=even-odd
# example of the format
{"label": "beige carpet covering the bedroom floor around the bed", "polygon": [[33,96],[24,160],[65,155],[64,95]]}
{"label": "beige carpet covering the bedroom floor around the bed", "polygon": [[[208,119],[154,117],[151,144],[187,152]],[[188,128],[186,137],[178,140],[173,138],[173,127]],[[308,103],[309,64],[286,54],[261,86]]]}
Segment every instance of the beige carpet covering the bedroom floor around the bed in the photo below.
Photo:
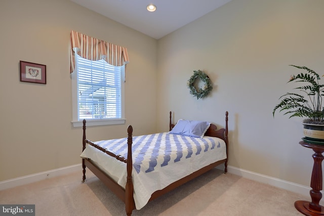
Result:
{"label": "beige carpet covering the bedroom floor around the bed", "polygon": [[[82,170],[3,190],[0,204],[35,204],[38,216],[126,215],[124,203],[89,169],[86,183],[81,180]],[[294,207],[300,199],[310,197],[213,169],[132,215],[302,215]]]}

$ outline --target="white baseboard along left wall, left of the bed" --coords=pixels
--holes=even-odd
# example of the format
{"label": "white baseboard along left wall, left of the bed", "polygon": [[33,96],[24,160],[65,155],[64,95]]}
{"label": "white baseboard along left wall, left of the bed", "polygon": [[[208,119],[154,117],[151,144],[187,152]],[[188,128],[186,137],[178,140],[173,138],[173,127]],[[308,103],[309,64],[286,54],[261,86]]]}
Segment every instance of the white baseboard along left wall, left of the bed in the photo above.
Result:
{"label": "white baseboard along left wall, left of the bed", "polygon": [[13,188],[13,187],[17,187],[17,186],[21,186],[21,185],[25,185],[25,184],[29,184],[29,183],[33,183],[33,182],[38,182],[41,180],[45,180],[45,179],[49,179],[49,178],[53,178],[53,177],[57,177],[57,176],[63,176],[63,175],[69,174],[74,171],[80,171],[80,173],[82,174],[82,165],[75,164],[75,165],[66,166],[63,168],[52,169],[52,170],[45,171],[45,172],[38,172],[37,174],[32,174],[32,175],[28,175],[28,176],[23,176],[23,177],[19,177],[19,178],[15,178],[15,179],[2,181],[2,182],[0,182],[0,191],[9,189],[9,188]]}

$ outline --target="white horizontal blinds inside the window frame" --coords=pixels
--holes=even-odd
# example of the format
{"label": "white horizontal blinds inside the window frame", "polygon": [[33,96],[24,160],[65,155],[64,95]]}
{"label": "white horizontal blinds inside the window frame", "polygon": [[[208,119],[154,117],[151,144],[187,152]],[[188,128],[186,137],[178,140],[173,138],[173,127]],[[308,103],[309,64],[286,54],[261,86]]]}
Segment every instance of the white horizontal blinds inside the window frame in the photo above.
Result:
{"label": "white horizontal blinds inside the window frame", "polygon": [[121,118],[122,70],[76,55],[78,120]]}

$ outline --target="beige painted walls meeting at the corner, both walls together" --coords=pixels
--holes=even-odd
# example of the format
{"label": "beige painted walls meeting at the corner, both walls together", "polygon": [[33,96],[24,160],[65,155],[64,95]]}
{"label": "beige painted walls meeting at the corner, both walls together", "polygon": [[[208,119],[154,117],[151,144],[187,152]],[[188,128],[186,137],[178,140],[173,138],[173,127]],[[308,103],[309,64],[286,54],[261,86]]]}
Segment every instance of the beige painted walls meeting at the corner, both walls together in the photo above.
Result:
{"label": "beige painted walls meeting at the corner, both walls together", "polygon": [[[233,0],[156,41],[65,0],[0,3],[0,181],[80,162],[81,128],[71,126],[69,32],[128,48],[126,125],[87,129],[97,140],[166,130],[178,118],[224,125],[229,165],[309,186],[312,151],[301,147],[302,119],[272,109],[305,65],[323,74],[322,0]],[[47,84],[19,81],[19,61],[47,65]],[[215,86],[189,95],[193,70]],[[143,84],[145,83],[145,85]],[[157,88],[156,88],[157,87]],[[157,128],[156,128],[157,125]]]}

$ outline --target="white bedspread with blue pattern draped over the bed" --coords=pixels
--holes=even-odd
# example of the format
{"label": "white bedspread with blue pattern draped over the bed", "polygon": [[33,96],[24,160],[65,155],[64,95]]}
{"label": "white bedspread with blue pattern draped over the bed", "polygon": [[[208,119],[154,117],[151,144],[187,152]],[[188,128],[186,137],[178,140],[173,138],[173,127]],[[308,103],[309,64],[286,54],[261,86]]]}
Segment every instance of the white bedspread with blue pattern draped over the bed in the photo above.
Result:
{"label": "white bedspread with blue pattern draped over the bed", "polygon": [[[127,138],[95,142],[127,158]],[[133,184],[136,209],[141,209],[151,194],[192,172],[226,158],[225,142],[219,138],[192,138],[169,133],[133,137]],[[87,145],[80,155],[90,158],[99,168],[125,188],[126,163]]]}

